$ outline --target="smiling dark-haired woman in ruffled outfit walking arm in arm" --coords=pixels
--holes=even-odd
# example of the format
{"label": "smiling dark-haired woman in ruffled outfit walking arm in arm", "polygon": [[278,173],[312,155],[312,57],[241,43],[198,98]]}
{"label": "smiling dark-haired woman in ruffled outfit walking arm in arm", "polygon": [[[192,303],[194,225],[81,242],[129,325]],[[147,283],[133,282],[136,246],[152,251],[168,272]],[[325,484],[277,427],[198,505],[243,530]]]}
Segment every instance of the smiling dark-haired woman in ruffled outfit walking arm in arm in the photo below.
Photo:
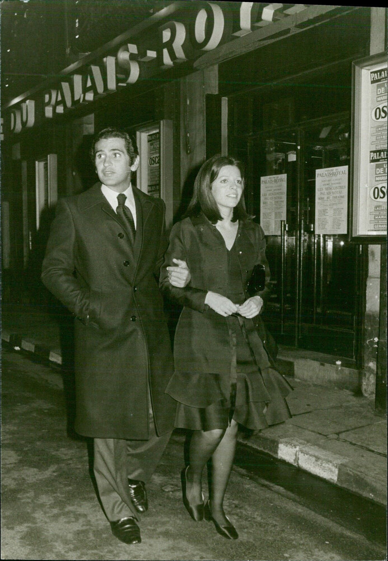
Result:
{"label": "smiling dark-haired woman in ruffled outfit walking arm in arm", "polygon": [[[216,155],[195,180],[186,218],[174,225],[161,270],[161,288],[183,306],[174,339],[175,373],[166,392],[177,402],[175,427],[193,431],[189,465],[182,471],[183,503],[195,521],[204,517],[228,539],[238,534],[223,509],[238,424],[262,429],[287,419],[290,386],[258,337],[254,318],[269,293],[270,272],[262,228],[244,207],[241,162]],[[175,259],[174,259],[175,258]],[[172,286],[186,261],[191,281]],[[247,297],[255,265],[266,286]],[[209,500],[202,471],[211,459]]]}

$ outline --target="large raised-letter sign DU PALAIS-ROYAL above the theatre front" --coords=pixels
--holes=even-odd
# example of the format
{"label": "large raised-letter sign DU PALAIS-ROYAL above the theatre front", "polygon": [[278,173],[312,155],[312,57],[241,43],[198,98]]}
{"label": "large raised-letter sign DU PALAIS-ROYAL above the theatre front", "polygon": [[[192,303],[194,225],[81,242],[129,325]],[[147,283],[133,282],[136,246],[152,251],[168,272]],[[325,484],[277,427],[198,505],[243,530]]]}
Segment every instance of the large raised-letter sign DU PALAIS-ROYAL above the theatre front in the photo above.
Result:
{"label": "large raised-letter sign DU PALAIS-ROYAL above the theatre front", "polygon": [[[45,118],[51,119],[161,70],[196,59],[221,44],[269,24],[276,19],[277,11],[281,11],[282,16],[289,16],[308,9],[304,4],[235,2],[233,11],[230,11],[229,3],[224,2],[185,3],[187,8],[190,7],[190,13],[187,8],[181,10],[182,2],[170,4],[146,20],[147,25],[141,27],[140,24],[138,31],[135,27],[130,39],[125,42],[123,39],[123,43],[114,48],[112,44],[117,44],[117,40],[108,43],[104,56],[101,57],[101,50],[104,50],[101,48],[100,58],[84,57],[85,63],[81,59],[68,67],[54,86],[50,85],[28,99],[21,96],[23,101],[19,103],[11,102],[4,117],[5,130],[19,133]],[[227,9],[226,17],[224,11]],[[169,17],[173,20],[166,22]]]}

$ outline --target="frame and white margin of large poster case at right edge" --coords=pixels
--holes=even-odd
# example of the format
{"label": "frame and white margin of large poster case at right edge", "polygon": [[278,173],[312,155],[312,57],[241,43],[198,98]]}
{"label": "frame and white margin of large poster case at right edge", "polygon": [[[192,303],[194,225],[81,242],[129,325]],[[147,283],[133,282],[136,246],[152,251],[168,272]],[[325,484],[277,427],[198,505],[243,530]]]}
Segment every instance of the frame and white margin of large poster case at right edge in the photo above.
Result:
{"label": "frame and white margin of large poster case at right edge", "polygon": [[[385,243],[386,233],[366,233],[359,223],[359,208],[362,206],[361,186],[367,177],[369,158],[362,157],[362,149],[369,146],[369,131],[366,132],[364,121],[369,111],[369,90],[364,80],[365,71],[373,71],[387,62],[387,52],[374,54],[353,61],[352,64],[352,164],[350,165],[349,193],[349,241],[356,243]],[[368,84],[369,85],[369,84]],[[367,140],[366,140],[367,135]]]}

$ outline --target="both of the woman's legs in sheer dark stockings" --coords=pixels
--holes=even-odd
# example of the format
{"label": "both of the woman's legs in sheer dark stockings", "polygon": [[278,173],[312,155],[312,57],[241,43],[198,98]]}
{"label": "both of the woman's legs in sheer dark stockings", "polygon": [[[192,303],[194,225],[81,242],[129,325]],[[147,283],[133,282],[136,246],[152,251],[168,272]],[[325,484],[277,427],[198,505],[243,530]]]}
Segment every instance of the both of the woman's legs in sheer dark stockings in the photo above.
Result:
{"label": "both of the woman's legs in sheer dark stockings", "polygon": [[190,442],[187,500],[193,505],[202,503],[202,472],[211,458],[210,508],[220,526],[228,524],[223,501],[232,471],[236,443],[237,423],[233,420],[226,430],[194,431]]}

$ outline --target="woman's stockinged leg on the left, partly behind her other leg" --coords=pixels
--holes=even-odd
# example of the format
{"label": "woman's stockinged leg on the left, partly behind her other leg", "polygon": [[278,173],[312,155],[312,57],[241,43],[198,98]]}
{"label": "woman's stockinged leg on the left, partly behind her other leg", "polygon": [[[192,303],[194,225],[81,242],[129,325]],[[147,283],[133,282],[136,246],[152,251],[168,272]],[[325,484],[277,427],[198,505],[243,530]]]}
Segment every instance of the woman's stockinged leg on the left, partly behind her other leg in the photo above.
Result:
{"label": "woman's stockinged leg on the left, partly behind her other leg", "polygon": [[190,466],[186,472],[186,496],[190,504],[202,503],[202,472],[224,434],[223,429],[193,431],[189,449]]}

